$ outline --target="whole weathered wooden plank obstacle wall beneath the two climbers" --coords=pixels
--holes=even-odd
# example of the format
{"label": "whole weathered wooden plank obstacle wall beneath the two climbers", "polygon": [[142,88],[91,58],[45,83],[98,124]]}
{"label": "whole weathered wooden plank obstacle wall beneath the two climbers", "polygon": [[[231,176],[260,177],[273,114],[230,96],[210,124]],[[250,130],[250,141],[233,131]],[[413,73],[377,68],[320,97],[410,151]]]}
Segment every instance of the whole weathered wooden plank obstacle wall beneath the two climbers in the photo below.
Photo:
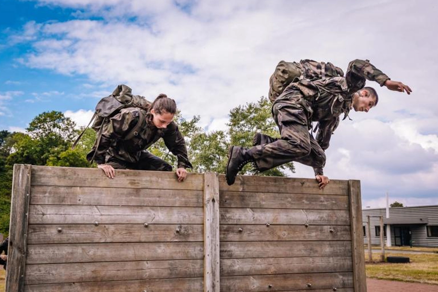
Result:
{"label": "whole weathered wooden plank obstacle wall beneath the two climbers", "polygon": [[7,291],[365,292],[360,210],[358,181],[15,165]]}

